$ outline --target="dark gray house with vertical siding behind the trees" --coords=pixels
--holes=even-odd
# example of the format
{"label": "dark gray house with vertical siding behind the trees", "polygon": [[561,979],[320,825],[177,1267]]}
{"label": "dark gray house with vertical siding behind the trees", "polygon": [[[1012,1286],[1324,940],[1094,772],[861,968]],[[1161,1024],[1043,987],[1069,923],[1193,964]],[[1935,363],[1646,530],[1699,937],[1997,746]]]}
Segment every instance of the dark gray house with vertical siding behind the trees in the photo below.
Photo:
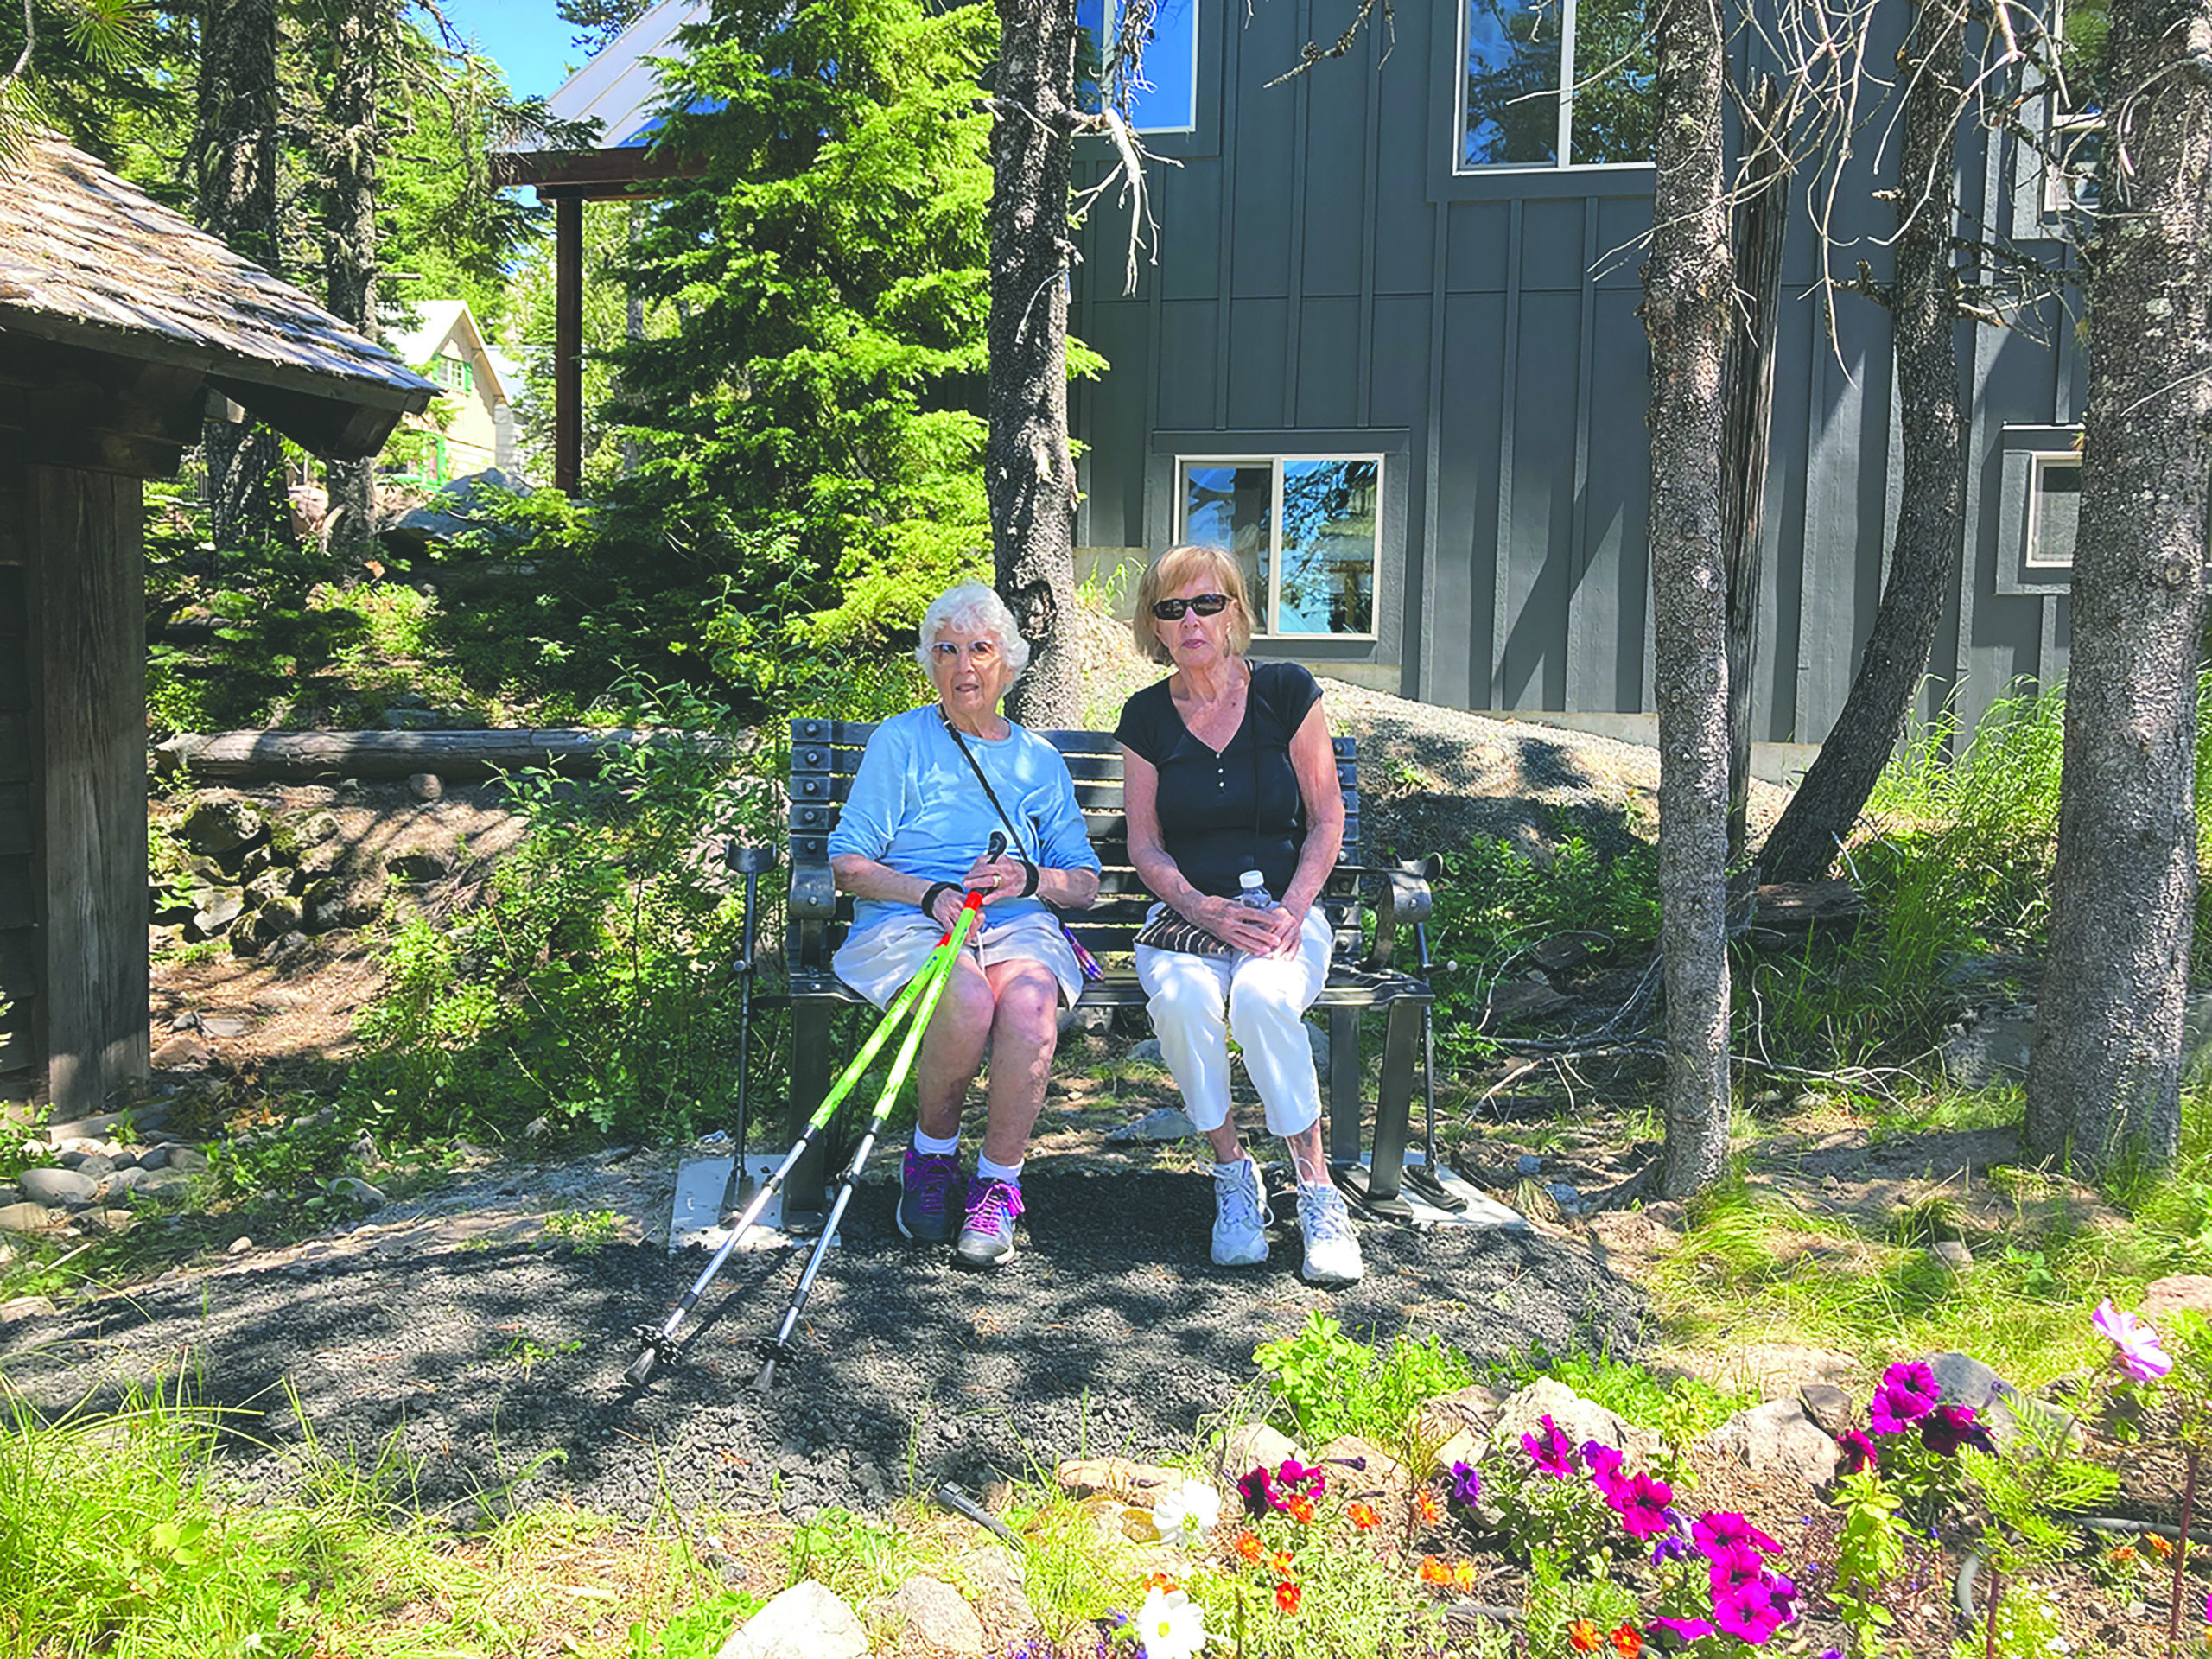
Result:
{"label": "dark gray house with vertical siding behind the trees", "polygon": [[[1095,29],[1115,4],[1082,15]],[[1637,730],[1650,117],[1632,75],[1577,82],[1632,51],[1639,7],[1400,0],[1396,31],[1378,7],[1347,58],[1267,84],[1354,9],[1164,0],[1137,108],[1164,159],[1159,252],[1135,294],[1113,195],[1082,232],[1071,327],[1113,367],[1073,398],[1079,564],[1223,542],[1263,595],[1261,655]],[[1845,274],[1887,274],[1893,219],[1865,173],[1891,164],[1885,131],[1867,124],[1840,195]],[[2064,254],[2059,181],[2033,159],[1989,142],[1960,184],[1962,219]],[[1794,204],[1754,714],[1783,743],[1820,741],[1843,706],[1898,507],[1887,314],[1843,294],[1829,319],[1816,274]],[[1971,719],[2066,668],[2081,361],[2053,301],[2015,327],[1962,325],[1960,363],[1964,575],[1927,706],[1958,697]]]}

